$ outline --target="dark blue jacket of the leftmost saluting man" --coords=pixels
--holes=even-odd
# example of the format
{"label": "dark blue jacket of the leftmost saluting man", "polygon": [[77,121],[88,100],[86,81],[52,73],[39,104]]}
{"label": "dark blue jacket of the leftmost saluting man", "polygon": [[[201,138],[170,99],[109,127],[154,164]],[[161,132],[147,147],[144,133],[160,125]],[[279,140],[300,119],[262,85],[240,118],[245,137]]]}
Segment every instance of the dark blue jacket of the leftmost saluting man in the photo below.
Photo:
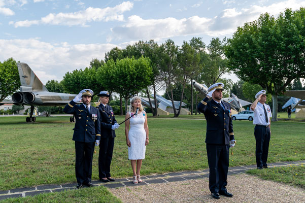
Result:
{"label": "dark blue jacket of the leftmost saluting man", "polygon": [[63,112],[75,116],[76,122],[72,140],[85,143],[100,140],[100,115],[95,107],[91,106],[90,112],[87,114],[83,104],[76,105],[72,100],[63,108]]}

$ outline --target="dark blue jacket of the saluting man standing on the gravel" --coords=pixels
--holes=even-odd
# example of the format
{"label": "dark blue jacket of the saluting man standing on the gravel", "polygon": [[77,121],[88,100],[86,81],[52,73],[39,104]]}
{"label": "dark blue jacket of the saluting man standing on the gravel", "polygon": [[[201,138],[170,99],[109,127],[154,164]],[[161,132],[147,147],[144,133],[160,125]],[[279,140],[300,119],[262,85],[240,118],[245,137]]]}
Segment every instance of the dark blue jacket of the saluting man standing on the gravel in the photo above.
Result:
{"label": "dark blue jacket of the saluting man standing on the gravel", "polygon": [[205,114],[207,120],[207,144],[229,145],[234,140],[233,124],[231,119],[231,106],[221,101],[225,110],[213,99],[204,98],[198,104],[198,110]]}

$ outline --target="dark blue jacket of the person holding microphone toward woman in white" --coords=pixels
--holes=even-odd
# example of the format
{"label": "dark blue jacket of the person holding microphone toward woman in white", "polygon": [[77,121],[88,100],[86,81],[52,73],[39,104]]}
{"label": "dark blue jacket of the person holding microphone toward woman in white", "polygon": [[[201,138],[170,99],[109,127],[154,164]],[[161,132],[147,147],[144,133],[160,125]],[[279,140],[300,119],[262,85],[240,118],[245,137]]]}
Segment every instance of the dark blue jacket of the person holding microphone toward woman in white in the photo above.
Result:
{"label": "dark blue jacket of the person holding microphone toward woman in white", "polygon": [[96,107],[100,114],[100,137],[115,138],[115,130],[112,130],[111,127],[117,123],[117,120],[115,119],[112,107],[108,105],[106,107],[103,104]]}

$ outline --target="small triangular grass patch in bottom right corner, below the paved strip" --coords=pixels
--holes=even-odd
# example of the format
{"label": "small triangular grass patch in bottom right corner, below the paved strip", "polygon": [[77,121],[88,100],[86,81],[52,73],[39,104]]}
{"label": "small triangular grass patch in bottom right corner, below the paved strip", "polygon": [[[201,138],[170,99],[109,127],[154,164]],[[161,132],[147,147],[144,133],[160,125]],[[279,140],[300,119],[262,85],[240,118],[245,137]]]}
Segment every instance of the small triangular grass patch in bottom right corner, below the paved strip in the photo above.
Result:
{"label": "small triangular grass patch in bottom right corner, below the paved strip", "polygon": [[305,166],[290,165],[273,167],[267,170],[250,170],[248,174],[259,176],[264,180],[273,180],[280,183],[288,183],[305,189]]}

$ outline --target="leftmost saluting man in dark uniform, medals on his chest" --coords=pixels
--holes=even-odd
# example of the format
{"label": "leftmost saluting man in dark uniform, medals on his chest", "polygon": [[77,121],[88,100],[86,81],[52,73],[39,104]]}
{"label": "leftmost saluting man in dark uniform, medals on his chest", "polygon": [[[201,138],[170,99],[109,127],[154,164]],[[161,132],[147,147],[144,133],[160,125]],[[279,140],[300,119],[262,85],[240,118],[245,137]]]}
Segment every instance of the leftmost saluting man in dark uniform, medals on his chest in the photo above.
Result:
{"label": "leftmost saluting man in dark uniform, medals on his chest", "polygon": [[[77,188],[83,185],[92,187],[92,158],[94,142],[100,140],[100,115],[96,108],[90,106],[93,91],[84,89],[67,104],[63,112],[74,114],[76,118],[73,140],[75,141],[75,174]],[[82,100],[83,104],[76,105]]]}

